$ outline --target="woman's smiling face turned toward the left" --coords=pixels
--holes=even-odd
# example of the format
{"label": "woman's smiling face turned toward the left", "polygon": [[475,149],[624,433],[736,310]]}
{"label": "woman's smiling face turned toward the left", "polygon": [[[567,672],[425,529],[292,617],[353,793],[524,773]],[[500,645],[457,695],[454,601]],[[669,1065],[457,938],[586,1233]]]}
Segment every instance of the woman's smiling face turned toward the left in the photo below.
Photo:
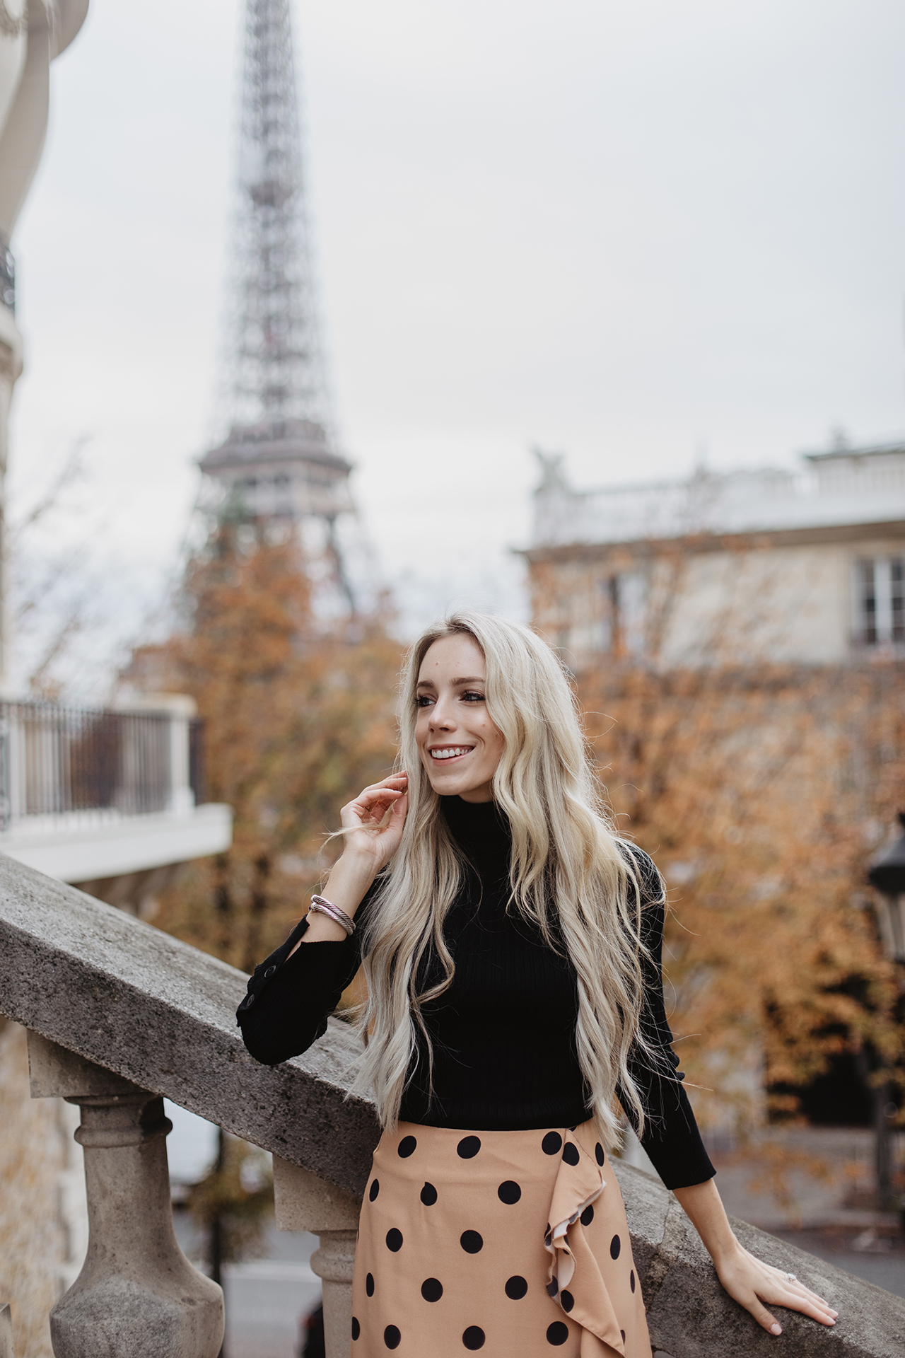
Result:
{"label": "woman's smiling face turned toward the left", "polygon": [[415,739],[442,797],[491,801],[503,737],[487,716],[484,656],[468,633],[441,637],[418,671]]}

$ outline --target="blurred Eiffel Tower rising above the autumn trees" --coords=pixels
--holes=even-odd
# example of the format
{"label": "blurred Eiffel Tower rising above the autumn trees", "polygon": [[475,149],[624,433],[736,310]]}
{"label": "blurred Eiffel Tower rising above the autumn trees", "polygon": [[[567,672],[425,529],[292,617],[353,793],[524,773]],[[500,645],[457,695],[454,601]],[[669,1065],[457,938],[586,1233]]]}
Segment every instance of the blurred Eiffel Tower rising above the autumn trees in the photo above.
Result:
{"label": "blurred Eiffel Tower rising above the autumn trees", "polygon": [[[336,520],[355,512],[336,451],[309,255],[290,0],[246,0],[239,209],[217,424],[202,508],[301,536],[355,611]],[[317,569],[319,568],[319,569]]]}

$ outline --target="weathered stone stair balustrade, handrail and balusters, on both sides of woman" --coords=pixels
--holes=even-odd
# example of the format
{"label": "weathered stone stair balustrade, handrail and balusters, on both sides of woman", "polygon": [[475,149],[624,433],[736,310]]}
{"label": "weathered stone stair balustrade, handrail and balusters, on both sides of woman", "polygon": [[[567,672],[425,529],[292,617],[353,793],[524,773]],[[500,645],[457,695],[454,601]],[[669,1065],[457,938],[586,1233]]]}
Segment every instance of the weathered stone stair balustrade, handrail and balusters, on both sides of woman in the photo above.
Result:
{"label": "weathered stone stair balustrade, handrail and balusters, on both sides of woman", "polygon": [[[102,1329],[104,1351],[144,1354],[141,1327],[122,1321],[130,1306],[136,1319],[156,1308],[155,1317],[172,1321],[167,1351],[185,1358],[217,1353],[214,1320],[206,1328],[197,1320],[212,1305],[206,1279],[193,1283],[194,1329],[185,1317],[178,1321],[172,1298],[153,1282],[155,1270],[161,1274],[155,1249],[170,1252],[168,1267],[176,1267],[178,1255],[175,1240],[160,1244],[167,1229],[160,1095],[274,1153],[278,1225],[320,1236],[312,1266],[324,1281],[327,1355],[346,1358],[358,1199],[379,1135],[372,1104],[346,1099],[355,1039],[331,1021],[304,1057],[259,1066],[235,1027],[243,993],[244,976],[232,967],[0,856],[0,1013],[41,1035],[30,1046],[33,1093],[62,1095],[83,1114],[77,1135],[85,1146],[92,1244],[83,1274],[54,1308],[58,1358],[92,1353],[91,1336]],[[142,1149],[148,1143],[160,1148],[156,1161],[156,1150]],[[659,1351],[672,1358],[905,1353],[905,1301],[735,1222],[746,1248],[795,1272],[840,1312],[833,1329],[784,1313],[783,1338],[767,1335],[722,1290],[673,1195],[628,1165],[616,1172]],[[157,1211],[157,1225],[142,1240],[126,1230],[136,1209],[130,1194],[141,1195],[149,1219]],[[106,1323],[104,1305],[117,1324]]]}

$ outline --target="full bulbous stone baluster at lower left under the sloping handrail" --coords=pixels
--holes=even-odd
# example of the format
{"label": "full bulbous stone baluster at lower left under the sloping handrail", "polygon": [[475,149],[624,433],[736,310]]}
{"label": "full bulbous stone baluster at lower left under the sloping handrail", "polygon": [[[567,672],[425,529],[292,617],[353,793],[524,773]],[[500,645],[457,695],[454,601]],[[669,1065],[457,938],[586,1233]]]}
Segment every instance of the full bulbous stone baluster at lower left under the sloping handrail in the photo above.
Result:
{"label": "full bulbous stone baluster at lower left under the sloping handrail", "polygon": [[28,1033],[34,1099],[79,1104],[88,1253],[50,1312],[57,1358],[216,1358],[220,1287],[193,1268],[172,1229],[163,1099]]}

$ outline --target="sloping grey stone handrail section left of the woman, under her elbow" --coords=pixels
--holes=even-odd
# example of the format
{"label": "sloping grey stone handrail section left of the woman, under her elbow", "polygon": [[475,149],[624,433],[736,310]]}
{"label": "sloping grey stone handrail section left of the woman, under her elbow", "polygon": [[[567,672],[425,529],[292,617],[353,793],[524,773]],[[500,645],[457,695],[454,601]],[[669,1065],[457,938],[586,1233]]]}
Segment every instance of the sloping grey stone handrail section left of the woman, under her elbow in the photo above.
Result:
{"label": "sloping grey stone handrail section left of the woman, under her elbow", "polygon": [[235,1021],[244,990],[233,967],[0,856],[0,1013],[361,1194],[380,1133],[368,1100],[346,1100],[357,1039],[331,1020],[304,1057],[261,1066]]}

